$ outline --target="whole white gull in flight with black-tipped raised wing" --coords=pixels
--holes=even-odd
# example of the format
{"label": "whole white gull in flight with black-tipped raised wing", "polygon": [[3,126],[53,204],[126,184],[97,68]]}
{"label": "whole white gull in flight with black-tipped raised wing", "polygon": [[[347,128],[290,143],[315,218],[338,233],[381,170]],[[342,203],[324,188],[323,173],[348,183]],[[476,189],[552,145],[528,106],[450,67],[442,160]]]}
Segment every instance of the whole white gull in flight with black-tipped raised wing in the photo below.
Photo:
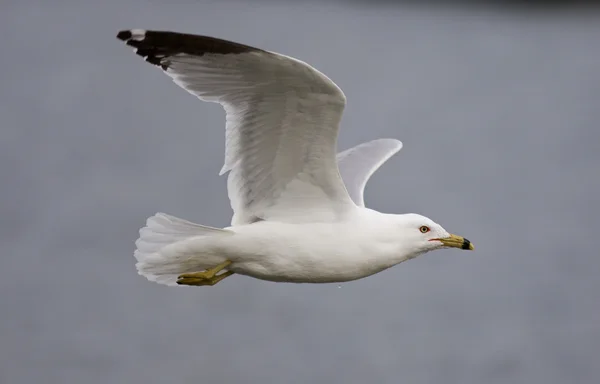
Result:
{"label": "whole white gull in flight with black-tipped raised wing", "polygon": [[340,283],[440,248],[473,250],[414,213],[365,207],[371,175],[402,148],[377,139],[336,153],[346,97],[309,64],[214,37],[123,30],[117,38],[200,100],[226,113],[231,225],[157,213],[140,229],[136,268],[168,286],[214,286],[234,274]]}

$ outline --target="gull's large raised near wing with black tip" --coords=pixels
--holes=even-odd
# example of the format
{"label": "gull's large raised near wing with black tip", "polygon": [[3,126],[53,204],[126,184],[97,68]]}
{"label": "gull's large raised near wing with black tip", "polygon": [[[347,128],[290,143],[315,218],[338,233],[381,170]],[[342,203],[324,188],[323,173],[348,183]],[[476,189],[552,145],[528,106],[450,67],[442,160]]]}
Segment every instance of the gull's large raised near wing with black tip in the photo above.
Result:
{"label": "gull's large raised near wing with black tip", "polygon": [[346,98],[325,75],[274,52],[206,36],[132,29],[117,35],[175,83],[226,112],[232,225],[334,221],[355,208],[336,141]]}

